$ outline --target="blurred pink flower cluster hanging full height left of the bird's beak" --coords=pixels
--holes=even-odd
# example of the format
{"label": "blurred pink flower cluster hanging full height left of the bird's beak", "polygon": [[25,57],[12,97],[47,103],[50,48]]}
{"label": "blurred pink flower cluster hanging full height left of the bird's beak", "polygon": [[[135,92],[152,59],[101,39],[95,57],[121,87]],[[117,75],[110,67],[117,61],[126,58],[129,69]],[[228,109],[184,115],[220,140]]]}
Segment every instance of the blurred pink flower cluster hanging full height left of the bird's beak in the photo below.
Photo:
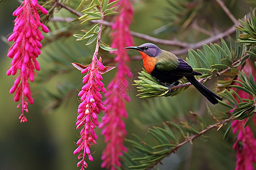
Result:
{"label": "blurred pink flower cluster hanging full height left of the bird's beak", "polygon": [[113,52],[117,56],[115,61],[118,62],[118,69],[117,74],[107,88],[108,92],[105,94],[106,100],[104,101],[107,107],[99,126],[99,128],[104,128],[101,134],[105,136],[105,142],[107,143],[102,153],[103,163],[101,167],[108,169],[115,169],[115,165],[120,167],[119,156],[122,155],[122,151],[127,151],[126,147],[123,146],[126,129],[122,117],[127,118],[125,100],[130,101],[130,97],[127,95],[129,86],[127,78],[131,77],[131,73],[126,65],[130,59],[123,48],[133,45],[133,38],[129,30],[133,17],[133,7],[129,0],[120,0],[117,6],[120,7],[120,11],[112,26],[115,30],[112,34],[112,46],[118,48],[117,51]]}

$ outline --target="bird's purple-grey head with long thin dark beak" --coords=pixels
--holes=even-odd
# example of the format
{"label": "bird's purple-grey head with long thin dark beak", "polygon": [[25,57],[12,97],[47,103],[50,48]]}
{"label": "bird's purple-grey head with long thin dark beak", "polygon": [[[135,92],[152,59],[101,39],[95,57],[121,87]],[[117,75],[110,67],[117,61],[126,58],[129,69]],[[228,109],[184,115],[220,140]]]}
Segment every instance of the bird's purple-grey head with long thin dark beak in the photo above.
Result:
{"label": "bird's purple-grey head with long thin dark beak", "polygon": [[140,46],[128,46],[125,49],[135,49],[139,52],[147,54],[150,57],[156,57],[161,52],[161,49],[152,43],[145,43]]}

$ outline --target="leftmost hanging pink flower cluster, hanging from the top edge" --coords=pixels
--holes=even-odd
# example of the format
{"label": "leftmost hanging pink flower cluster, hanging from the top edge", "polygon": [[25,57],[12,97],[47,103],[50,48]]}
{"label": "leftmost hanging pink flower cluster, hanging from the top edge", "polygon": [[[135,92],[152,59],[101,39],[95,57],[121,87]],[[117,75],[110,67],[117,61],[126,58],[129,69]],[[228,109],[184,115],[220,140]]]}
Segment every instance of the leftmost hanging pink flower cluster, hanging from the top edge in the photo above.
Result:
{"label": "leftmost hanging pink flower cluster, hanging from the top edge", "polygon": [[[7,70],[7,75],[15,75],[18,72],[13,87],[10,89],[10,94],[14,95],[14,101],[19,101],[22,98],[22,114],[20,114],[20,122],[26,122],[24,111],[28,112],[28,103],[33,104],[34,100],[31,97],[30,82],[34,82],[36,75],[35,69],[40,70],[40,66],[36,58],[41,53],[40,48],[43,40],[43,35],[38,29],[42,27],[43,32],[49,32],[49,29],[40,22],[40,16],[37,10],[43,14],[48,14],[48,11],[38,4],[37,0],[25,0],[13,12],[16,16],[13,33],[8,38],[8,41],[14,41],[14,44],[9,49],[8,57],[13,58],[11,67]],[[25,101],[25,96],[27,101]],[[20,105],[20,104],[19,104]],[[18,105],[18,107],[19,107]]]}

